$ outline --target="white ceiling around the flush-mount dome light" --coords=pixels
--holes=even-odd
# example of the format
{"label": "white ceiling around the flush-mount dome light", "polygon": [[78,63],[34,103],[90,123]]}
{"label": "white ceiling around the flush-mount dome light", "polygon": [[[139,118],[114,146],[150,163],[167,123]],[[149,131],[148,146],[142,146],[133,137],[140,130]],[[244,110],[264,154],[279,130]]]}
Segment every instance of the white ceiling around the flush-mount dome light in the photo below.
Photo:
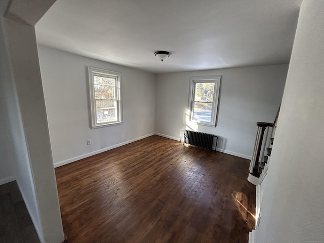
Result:
{"label": "white ceiling around the flush-mount dome light", "polygon": [[[302,0],[57,0],[38,44],[165,73],[289,63]],[[169,51],[161,62],[155,51]]]}

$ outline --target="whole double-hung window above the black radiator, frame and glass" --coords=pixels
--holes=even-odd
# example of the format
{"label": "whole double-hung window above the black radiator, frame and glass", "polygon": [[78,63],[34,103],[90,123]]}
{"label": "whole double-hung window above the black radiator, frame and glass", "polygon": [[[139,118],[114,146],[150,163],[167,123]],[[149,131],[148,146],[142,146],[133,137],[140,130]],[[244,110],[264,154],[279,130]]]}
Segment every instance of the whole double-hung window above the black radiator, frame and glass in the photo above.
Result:
{"label": "whole double-hung window above the black radiator, frame and glass", "polygon": [[216,126],[220,80],[220,75],[190,78],[189,120]]}

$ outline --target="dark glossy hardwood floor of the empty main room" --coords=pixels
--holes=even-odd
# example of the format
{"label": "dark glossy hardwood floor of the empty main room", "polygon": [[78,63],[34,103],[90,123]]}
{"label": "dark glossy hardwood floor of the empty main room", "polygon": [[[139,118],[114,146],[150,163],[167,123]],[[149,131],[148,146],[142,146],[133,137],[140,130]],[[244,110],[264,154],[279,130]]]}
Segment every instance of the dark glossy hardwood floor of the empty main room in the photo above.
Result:
{"label": "dark glossy hardwood floor of the empty main room", "polygon": [[56,168],[68,243],[248,242],[249,161],[151,136]]}

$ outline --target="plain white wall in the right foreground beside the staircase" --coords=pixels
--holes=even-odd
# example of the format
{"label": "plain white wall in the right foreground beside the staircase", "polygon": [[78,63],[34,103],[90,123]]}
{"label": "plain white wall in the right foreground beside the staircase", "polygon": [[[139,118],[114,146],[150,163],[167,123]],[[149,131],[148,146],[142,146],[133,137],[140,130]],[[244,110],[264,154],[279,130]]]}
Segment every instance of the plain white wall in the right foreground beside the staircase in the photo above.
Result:
{"label": "plain white wall in the right foreground beside the staircase", "polygon": [[256,243],[324,241],[323,13],[302,3]]}

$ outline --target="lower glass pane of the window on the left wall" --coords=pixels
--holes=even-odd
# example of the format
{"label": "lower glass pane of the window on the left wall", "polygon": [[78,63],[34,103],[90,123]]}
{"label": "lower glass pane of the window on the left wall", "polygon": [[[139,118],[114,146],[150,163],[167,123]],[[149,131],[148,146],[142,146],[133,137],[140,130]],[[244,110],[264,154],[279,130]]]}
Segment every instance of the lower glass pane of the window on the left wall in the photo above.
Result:
{"label": "lower glass pane of the window on the left wall", "polygon": [[96,100],[97,123],[117,120],[117,101]]}

